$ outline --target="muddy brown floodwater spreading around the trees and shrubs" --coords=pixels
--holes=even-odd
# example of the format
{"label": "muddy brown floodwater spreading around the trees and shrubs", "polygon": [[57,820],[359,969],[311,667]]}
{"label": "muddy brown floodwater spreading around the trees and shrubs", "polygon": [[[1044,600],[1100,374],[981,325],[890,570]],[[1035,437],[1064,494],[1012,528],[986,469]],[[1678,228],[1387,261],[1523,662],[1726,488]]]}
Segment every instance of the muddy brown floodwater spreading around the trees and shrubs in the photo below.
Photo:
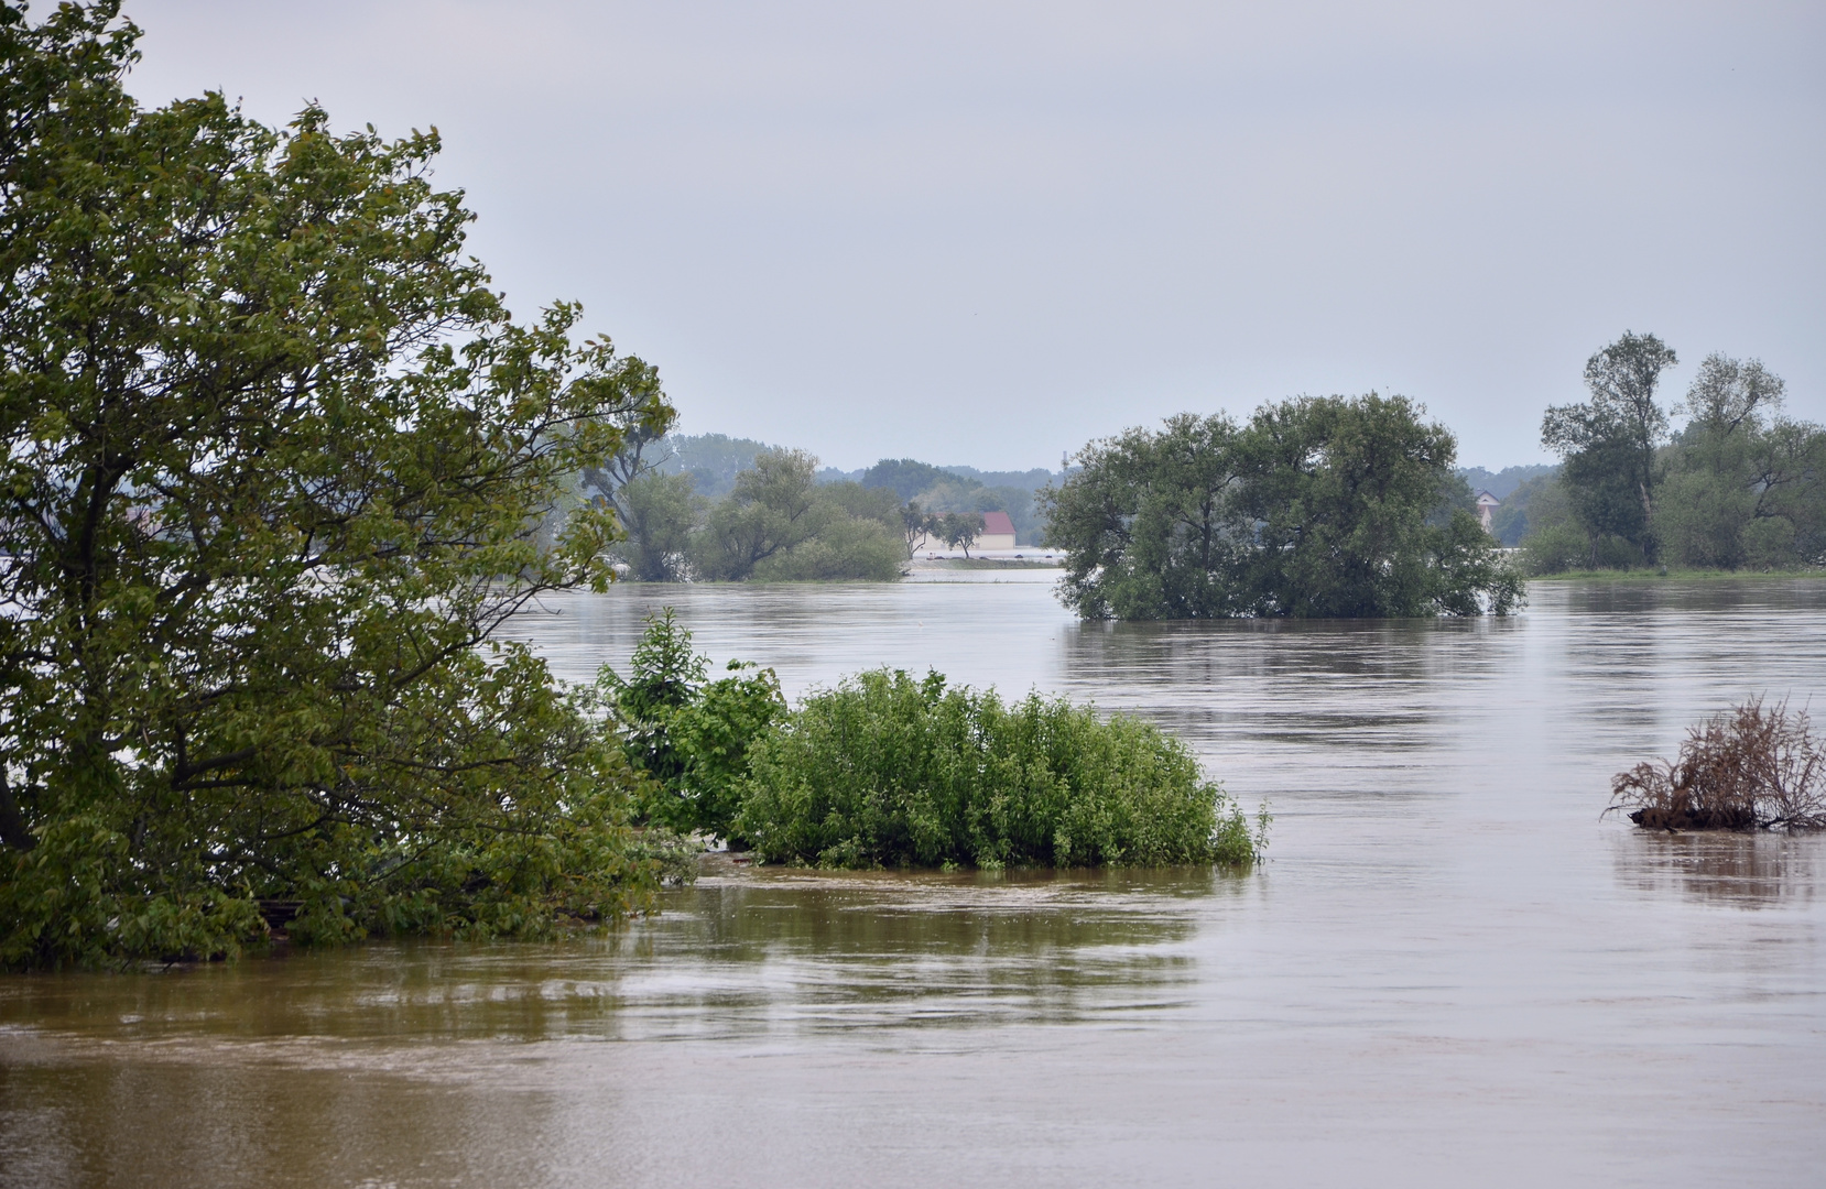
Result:
{"label": "muddy brown floodwater spreading around the trees and shrubs", "polygon": [[933,665],[1145,714],[1271,802],[1262,869],[725,869],[562,944],[0,979],[0,1185],[1826,1182],[1826,838],[1600,818],[1696,716],[1826,707],[1826,583],[1108,626],[992,577],[526,632],[581,679],[672,603],[789,694]]}

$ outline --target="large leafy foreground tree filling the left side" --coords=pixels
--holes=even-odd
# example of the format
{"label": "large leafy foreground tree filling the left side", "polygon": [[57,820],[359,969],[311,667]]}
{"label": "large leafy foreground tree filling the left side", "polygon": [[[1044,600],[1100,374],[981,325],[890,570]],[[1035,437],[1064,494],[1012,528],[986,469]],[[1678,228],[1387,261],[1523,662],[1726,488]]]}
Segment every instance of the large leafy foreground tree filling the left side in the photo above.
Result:
{"label": "large leafy foreground tree filling the left side", "polygon": [[497,636],[608,581],[539,528],[654,369],[511,320],[435,132],[144,110],[137,37],[0,7],[0,964],[624,908],[626,769]]}

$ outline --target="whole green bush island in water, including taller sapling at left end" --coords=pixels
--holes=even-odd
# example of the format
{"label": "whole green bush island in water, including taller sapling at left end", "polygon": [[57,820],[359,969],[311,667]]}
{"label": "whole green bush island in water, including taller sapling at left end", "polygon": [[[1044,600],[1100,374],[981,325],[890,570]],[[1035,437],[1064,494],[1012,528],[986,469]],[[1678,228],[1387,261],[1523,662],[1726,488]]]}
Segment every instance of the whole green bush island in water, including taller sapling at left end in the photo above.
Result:
{"label": "whole green bush island in water, including taller sapling at left end", "polygon": [[666,610],[630,676],[601,689],[648,822],[820,868],[1066,868],[1223,862],[1265,842],[1191,749],[1063,698],[878,668],[789,710],[769,670],[707,681]]}

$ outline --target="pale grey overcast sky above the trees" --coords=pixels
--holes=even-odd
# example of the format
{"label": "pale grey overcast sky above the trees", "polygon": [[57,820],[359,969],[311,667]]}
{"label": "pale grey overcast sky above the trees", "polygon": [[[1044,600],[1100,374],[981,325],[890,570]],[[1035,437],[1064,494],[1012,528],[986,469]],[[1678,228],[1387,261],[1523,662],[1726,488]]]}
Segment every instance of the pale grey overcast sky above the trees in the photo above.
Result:
{"label": "pale grey overcast sky above the trees", "polygon": [[142,102],[436,124],[513,309],[584,301],[687,433],[1002,469],[1379,389],[1499,468],[1625,329],[1826,420],[1817,0],[128,13]]}

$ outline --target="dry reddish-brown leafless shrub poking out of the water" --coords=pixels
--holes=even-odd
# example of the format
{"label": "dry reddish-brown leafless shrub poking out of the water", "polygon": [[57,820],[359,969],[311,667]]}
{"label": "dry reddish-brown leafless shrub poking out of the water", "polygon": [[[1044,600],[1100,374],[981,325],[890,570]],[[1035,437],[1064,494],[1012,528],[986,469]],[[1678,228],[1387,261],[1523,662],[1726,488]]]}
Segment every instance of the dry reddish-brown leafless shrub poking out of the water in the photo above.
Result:
{"label": "dry reddish-brown leafless shrub poking out of the water", "polygon": [[1762,698],[1687,729],[1680,758],[1611,780],[1611,807],[1645,829],[1826,827],[1826,742],[1808,712]]}

